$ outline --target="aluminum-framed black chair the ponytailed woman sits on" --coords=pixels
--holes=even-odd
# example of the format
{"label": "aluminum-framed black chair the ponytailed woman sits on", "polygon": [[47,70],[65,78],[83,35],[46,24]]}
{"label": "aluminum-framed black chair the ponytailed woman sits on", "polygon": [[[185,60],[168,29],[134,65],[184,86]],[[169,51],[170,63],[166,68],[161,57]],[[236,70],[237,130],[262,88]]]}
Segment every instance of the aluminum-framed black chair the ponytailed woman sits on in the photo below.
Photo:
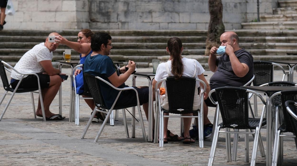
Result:
{"label": "aluminum-framed black chair the ponytailed woman sits on", "polygon": [[[161,84],[163,81],[166,81],[166,92],[168,95],[168,105],[169,110],[165,110],[161,107],[160,101],[160,90],[156,88],[156,99],[158,111],[156,111],[157,121],[159,122],[159,147],[164,147],[164,117],[173,117],[173,118],[198,118],[198,130],[199,130],[199,147],[203,148],[203,97],[204,92],[206,91],[206,84],[200,80],[193,77],[182,76],[179,79],[175,79],[174,76],[170,76],[159,80],[156,83],[156,87]],[[200,109],[193,110],[193,102],[195,95],[196,82],[202,83],[204,88],[200,88]],[[173,114],[187,114],[187,113],[197,113],[197,116],[164,116],[164,113],[173,113]],[[158,126],[155,126],[155,130],[158,129]],[[157,139],[157,135],[155,135]]]}

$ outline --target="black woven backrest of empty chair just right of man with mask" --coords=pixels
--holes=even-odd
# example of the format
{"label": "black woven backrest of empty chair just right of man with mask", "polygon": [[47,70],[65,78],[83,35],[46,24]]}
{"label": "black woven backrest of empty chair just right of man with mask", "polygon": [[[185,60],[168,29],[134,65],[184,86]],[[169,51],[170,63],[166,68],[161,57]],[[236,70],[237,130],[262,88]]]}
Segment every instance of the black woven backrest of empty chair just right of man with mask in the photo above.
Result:
{"label": "black woven backrest of empty chair just right of man with mask", "polygon": [[254,61],[254,86],[260,86],[273,81],[273,64],[268,61]]}

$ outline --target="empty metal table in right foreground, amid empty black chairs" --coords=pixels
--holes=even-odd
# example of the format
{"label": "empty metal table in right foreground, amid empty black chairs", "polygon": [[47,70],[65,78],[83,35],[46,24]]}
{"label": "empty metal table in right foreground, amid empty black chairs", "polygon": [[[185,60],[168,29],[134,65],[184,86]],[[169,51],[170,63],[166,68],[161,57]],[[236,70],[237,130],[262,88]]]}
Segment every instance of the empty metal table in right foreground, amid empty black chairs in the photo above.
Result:
{"label": "empty metal table in right foreground, amid empty black chairs", "polygon": [[241,86],[243,88],[247,88],[253,91],[262,92],[266,94],[266,118],[267,118],[267,137],[266,137],[266,143],[267,143],[267,156],[266,156],[266,165],[270,166],[272,163],[272,133],[271,126],[273,125],[273,119],[272,119],[272,103],[270,102],[270,97],[267,95],[267,92],[279,92],[279,91],[285,91],[285,90],[297,90],[296,86]]}

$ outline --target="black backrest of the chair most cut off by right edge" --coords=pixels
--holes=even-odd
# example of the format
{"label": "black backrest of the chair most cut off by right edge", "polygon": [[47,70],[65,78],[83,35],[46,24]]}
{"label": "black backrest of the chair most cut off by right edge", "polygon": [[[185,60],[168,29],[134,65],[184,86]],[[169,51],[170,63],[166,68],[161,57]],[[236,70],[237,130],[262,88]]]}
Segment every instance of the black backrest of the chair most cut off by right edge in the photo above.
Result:
{"label": "black backrest of the chair most cut off by right edge", "polygon": [[[290,111],[293,112],[293,114],[295,114],[295,116],[297,115],[297,107],[295,105],[295,102],[292,101],[292,100],[288,100],[285,102],[285,107],[286,107],[286,111],[287,111],[287,115],[290,119],[290,123],[291,123],[291,126],[293,128],[293,133],[294,135],[296,136],[297,135],[297,119],[296,118],[293,118],[293,116],[289,113],[289,110],[288,108],[290,109]],[[297,139],[295,138],[295,145],[296,145],[296,148],[297,148]]]}

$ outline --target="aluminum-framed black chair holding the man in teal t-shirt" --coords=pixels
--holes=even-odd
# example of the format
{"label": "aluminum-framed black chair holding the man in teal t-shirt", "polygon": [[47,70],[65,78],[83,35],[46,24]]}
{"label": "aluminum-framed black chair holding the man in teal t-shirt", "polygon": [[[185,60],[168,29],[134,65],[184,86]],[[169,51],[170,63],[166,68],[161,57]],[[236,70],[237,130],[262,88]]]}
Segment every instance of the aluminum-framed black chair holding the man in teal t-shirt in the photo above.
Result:
{"label": "aluminum-framed black chair holding the man in teal t-shirt", "polygon": [[[127,127],[127,120],[126,120],[126,113],[125,113],[125,110],[124,108],[128,108],[128,107],[134,107],[134,106],[137,106],[138,107],[138,114],[139,114],[139,118],[140,118],[140,124],[141,124],[141,128],[142,128],[142,134],[143,134],[143,140],[145,142],[147,142],[147,138],[146,138],[146,132],[145,132],[145,128],[144,128],[144,123],[143,123],[143,118],[142,118],[142,113],[141,113],[141,109],[140,109],[140,103],[139,103],[139,98],[138,98],[138,92],[135,88],[133,87],[126,87],[126,88],[116,88],[115,86],[113,86],[111,83],[109,83],[108,81],[100,78],[100,77],[95,77],[93,75],[90,75],[89,73],[84,73],[85,75],[85,78],[86,78],[86,82],[88,83],[88,86],[89,86],[89,89],[90,89],[90,92],[91,92],[91,95],[94,99],[94,102],[95,102],[95,109],[88,121],[88,124],[86,125],[85,129],[84,129],[84,132],[81,136],[81,139],[83,139],[86,135],[86,132],[87,130],[89,129],[89,126],[91,124],[91,121],[92,119],[94,118],[96,112],[103,112],[103,113],[106,113],[106,117],[105,117],[105,120],[103,121],[103,124],[101,125],[100,129],[99,129],[99,132],[94,140],[94,142],[97,142],[109,117],[110,117],[110,114],[112,113],[112,110],[113,109],[122,109],[123,110],[123,118],[124,118],[124,125],[125,125],[125,131],[126,131],[126,137],[129,138],[129,133],[128,133],[128,127]],[[108,86],[111,86],[112,88],[116,89],[119,91],[119,94],[118,96],[116,97],[115,101],[113,102],[113,105],[111,107],[107,107],[105,105],[105,101],[104,101],[104,98],[101,94],[101,90],[100,90],[100,84],[101,83],[106,83]],[[116,102],[121,94],[122,91],[125,91],[125,90],[134,90],[136,92],[136,96],[137,96],[137,104],[132,104],[132,105],[125,105],[125,106],[116,106]],[[103,109],[106,109],[108,111],[104,111],[104,110],[98,110],[97,108],[100,107],[100,108],[103,108]]]}

